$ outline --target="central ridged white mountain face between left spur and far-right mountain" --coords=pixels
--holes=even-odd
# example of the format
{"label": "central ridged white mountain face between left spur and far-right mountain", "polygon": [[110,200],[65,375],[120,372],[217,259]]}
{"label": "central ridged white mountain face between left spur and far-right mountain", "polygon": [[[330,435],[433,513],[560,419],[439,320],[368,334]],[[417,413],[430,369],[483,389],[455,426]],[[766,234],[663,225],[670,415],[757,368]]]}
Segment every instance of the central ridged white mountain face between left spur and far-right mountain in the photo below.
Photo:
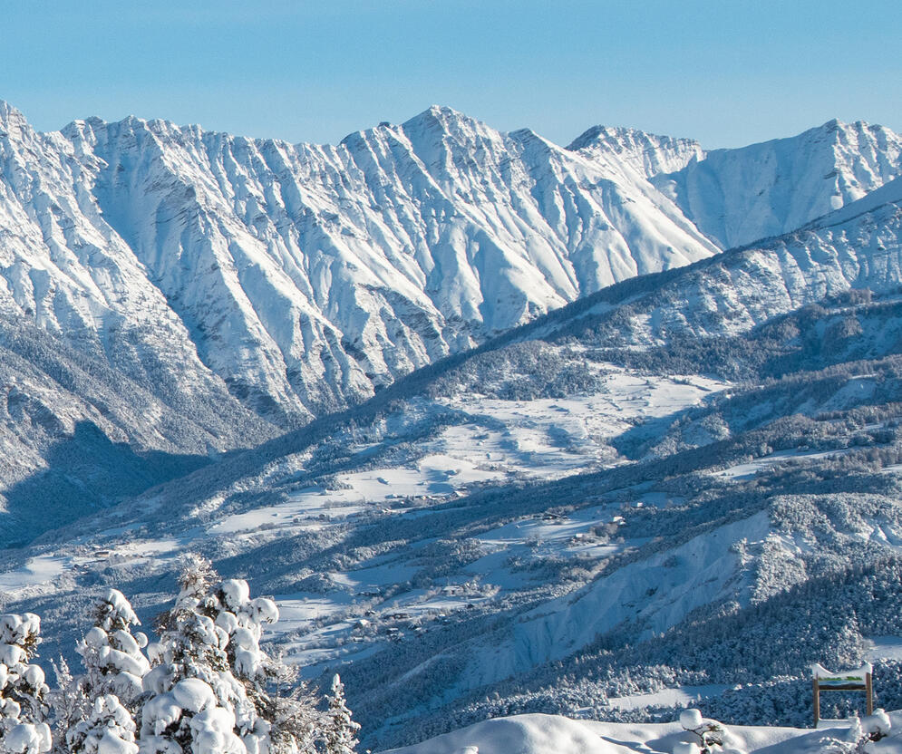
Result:
{"label": "central ridged white mountain face between left spur and far-right mountain", "polygon": [[337,147],[137,119],[63,134],[204,361],[296,411],[715,251],[644,179],[447,108]]}

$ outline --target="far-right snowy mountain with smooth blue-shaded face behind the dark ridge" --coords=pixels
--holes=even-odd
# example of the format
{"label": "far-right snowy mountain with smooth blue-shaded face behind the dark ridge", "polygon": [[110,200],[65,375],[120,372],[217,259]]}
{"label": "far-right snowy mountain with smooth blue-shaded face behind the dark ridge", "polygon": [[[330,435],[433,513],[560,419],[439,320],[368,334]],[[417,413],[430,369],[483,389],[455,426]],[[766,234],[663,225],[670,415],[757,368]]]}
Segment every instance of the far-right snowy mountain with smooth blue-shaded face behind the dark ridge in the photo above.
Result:
{"label": "far-right snowy mountain with smooth blue-shaded face behind the dark ridge", "polygon": [[789,139],[707,152],[653,182],[703,233],[731,248],[788,233],[900,171],[902,137],[860,121],[829,121]]}

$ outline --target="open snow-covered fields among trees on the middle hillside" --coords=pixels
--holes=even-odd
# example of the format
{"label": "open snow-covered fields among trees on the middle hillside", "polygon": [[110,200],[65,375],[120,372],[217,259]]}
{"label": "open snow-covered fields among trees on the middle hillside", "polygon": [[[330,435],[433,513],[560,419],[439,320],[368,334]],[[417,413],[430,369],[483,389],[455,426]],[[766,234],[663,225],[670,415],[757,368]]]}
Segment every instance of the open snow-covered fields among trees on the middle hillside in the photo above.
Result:
{"label": "open snow-covered fields among trees on the middle hillside", "polygon": [[[389,422],[383,430],[403,436],[414,413],[420,415],[420,422],[434,426],[407,463],[381,459],[378,451],[383,443],[373,437],[353,447],[351,469],[329,475],[319,484],[293,485],[275,505],[256,505],[228,515],[212,510],[205,514],[201,508],[194,526],[162,538],[157,527],[142,527],[141,519],[127,527],[92,530],[55,548],[42,546],[41,555],[0,576],[0,586],[8,598],[18,600],[65,591],[73,582],[90,580],[93,572],[111,566],[165,570],[172,558],[190,549],[226,546],[241,552],[298,535],[328,540],[347,527],[383,519],[415,523],[433,507],[486,486],[564,478],[623,463],[608,440],[629,429],[632,422],[671,416],[726,387],[703,376],[655,378],[615,368],[599,368],[598,374],[599,391],[571,398],[504,401],[460,395],[419,401],[403,416],[393,417],[397,428]],[[309,459],[309,453],[288,459],[267,474],[264,484],[286,485]],[[207,505],[223,502],[214,499]],[[636,502],[668,504],[655,493],[641,495]],[[152,520],[158,510],[159,504],[151,502],[146,517]],[[397,591],[417,572],[410,561],[417,560],[422,546],[405,558],[373,556],[353,569],[320,573],[310,579],[314,591],[276,594],[283,614],[278,631],[299,637],[288,644],[292,659],[310,665],[308,674],[318,673],[324,662],[373,652],[373,643],[383,646],[401,638],[403,631],[420,629],[422,618],[427,623],[447,619],[468,604],[489,597],[504,599],[508,592],[527,587],[528,578],[503,565],[510,558],[560,553],[599,557],[623,549],[598,544],[599,537],[592,531],[613,517],[606,507],[594,507],[573,516],[545,512],[489,529],[476,539],[486,555],[441,587]],[[81,554],[70,555],[73,548]],[[388,591],[394,594],[380,599]],[[393,614],[406,617],[393,619]],[[361,620],[364,623],[358,624]],[[371,625],[378,631],[364,631]]]}

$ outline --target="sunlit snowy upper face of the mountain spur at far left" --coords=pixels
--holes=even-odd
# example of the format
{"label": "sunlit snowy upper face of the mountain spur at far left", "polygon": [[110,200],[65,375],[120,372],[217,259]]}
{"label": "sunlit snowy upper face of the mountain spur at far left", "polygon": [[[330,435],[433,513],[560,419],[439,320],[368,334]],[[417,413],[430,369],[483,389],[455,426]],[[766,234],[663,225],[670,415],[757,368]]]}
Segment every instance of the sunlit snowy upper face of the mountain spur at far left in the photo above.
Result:
{"label": "sunlit snowy upper face of the mountain spur at far left", "polygon": [[160,394],[169,388],[183,406],[222,400],[184,324],[103,221],[68,142],[0,103],[0,169],[0,311]]}

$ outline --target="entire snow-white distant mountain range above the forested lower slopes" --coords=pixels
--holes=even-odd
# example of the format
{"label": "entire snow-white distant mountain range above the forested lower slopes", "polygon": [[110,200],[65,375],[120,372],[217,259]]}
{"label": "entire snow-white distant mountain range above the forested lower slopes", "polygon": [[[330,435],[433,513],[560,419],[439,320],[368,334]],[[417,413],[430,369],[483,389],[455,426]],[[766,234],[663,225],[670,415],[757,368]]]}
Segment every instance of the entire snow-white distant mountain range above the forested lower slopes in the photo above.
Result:
{"label": "entire snow-white distant mountain range above the forested lower slopes", "polygon": [[[174,391],[225,384],[282,427],[793,229],[899,163],[898,137],[863,124],[710,153],[596,127],[562,149],[440,107],[313,146],[137,118],[39,134],[4,104],[0,141],[7,310],[102,358],[127,330],[167,354]],[[137,352],[116,358],[140,374]]]}

